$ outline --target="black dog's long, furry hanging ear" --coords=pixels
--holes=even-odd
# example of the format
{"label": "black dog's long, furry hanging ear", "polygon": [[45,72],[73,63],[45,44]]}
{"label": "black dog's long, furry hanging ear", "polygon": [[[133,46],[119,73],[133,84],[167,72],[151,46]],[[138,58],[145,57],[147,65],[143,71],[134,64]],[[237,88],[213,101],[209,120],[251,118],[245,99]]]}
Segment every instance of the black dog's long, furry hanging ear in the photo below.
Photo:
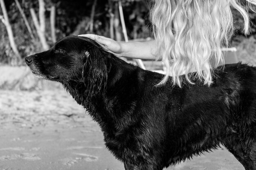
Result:
{"label": "black dog's long, furry hanging ear", "polygon": [[105,93],[108,79],[107,59],[106,54],[102,53],[97,47],[86,52],[83,59],[82,76],[90,96]]}

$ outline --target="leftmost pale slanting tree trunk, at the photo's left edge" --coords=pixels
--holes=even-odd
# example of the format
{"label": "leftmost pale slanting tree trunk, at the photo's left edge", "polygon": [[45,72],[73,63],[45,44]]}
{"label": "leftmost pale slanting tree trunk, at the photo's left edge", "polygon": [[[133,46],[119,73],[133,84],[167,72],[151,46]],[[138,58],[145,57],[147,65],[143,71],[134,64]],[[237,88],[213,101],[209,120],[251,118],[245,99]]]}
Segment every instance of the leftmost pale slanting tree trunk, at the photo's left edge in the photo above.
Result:
{"label": "leftmost pale slanting tree trunk, at the photo's left edge", "polygon": [[8,13],[7,13],[7,10],[5,8],[4,0],[0,0],[0,6],[1,6],[1,9],[2,9],[2,13],[4,15],[4,17],[1,20],[2,20],[2,22],[4,23],[4,25],[7,29],[11,49],[13,50],[13,52],[16,55],[16,57],[12,57],[11,62],[13,64],[18,64],[21,61],[21,56],[20,56],[20,53],[17,49],[16,43],[14,41],[14,36],[13,36],[12,29],[11,29],[11,24],[9,22]]}

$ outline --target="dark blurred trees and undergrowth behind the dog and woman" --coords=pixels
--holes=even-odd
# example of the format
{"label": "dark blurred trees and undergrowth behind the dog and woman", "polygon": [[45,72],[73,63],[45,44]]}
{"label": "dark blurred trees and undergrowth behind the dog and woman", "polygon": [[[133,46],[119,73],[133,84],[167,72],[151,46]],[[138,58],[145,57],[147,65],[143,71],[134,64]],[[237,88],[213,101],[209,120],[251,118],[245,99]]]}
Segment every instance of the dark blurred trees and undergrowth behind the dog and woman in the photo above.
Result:
{"label": "dark blurred trees and undergrowth behind the dog and woman", "polygon": [[[124,40],[118,0],[0,0],[0,2],[0,63],[24,64],[22,58],[48,49],[56,40],[67,35],[96,33],[118,41]],[[121,0],[121,2],[128,38],[150,37],[148,18],[150,0]],[[248,44],[244,41],[255,46],[256,13],[250,11],[250,18],[252,30],[249,35],[251,39],[248,41],[243,36],[242,17],[234,11],[237,31],[232,46],[239,46],[242,42],[248,50]]]}

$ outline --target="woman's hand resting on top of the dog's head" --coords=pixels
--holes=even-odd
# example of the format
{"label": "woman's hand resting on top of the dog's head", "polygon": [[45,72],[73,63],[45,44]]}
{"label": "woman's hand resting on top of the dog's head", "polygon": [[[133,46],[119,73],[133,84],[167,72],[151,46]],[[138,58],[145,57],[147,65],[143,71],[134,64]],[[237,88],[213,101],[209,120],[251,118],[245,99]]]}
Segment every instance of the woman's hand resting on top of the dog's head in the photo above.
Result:
{"label": "woman's hand resting on top of the dog's head", "polygon": [[106,51],[113,53],[117,57],[121,57],[123,53],[123,47],[121,42],[112,40],[111,38],[106,38],[104,36],[95,35],[95,34],[82,34],[78,35],[82,37],[87,37],[98,42]]}

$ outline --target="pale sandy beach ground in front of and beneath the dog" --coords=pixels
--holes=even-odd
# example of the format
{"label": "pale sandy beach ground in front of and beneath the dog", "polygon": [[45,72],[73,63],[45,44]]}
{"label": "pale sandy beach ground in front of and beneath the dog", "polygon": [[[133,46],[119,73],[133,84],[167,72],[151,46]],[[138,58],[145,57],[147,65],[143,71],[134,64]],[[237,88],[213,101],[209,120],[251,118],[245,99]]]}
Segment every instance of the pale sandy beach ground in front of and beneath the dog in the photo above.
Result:
{"label": "pale sandy beach ground in front of and beneath the dog", "polygon": [[[0,91],[0,170],[124,170],[64,89]],[[168,170],[244,170],[224,147]]]}

